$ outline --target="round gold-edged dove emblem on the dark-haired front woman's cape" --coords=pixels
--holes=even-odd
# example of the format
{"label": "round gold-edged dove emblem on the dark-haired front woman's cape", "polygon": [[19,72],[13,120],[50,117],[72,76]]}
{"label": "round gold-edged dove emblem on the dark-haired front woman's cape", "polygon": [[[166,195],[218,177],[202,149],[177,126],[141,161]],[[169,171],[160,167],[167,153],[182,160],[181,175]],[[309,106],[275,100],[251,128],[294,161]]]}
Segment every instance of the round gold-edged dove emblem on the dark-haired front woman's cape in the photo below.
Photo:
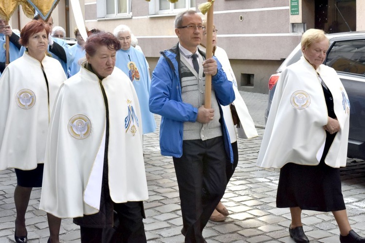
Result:
{"label": "round gold-edged dove emblem on the dark-haired front woman's cape", "polygon": [[68,129],[75,139],[86,139],[91,133],[91,121],[85,115],[74,115],[69,123]]}

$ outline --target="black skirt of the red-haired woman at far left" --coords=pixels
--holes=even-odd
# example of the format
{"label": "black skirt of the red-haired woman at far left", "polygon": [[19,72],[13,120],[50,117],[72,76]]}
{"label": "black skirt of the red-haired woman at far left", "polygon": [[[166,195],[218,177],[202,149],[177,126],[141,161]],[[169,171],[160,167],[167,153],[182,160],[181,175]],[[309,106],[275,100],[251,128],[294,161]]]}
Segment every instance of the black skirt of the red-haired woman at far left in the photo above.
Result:
{"label": "black skirt of the red-haired woman at far left", "polygon": [[37,168],[30,171],[15,169],[18,186],[21,187],[42,187],[44,164],[37,164]]}

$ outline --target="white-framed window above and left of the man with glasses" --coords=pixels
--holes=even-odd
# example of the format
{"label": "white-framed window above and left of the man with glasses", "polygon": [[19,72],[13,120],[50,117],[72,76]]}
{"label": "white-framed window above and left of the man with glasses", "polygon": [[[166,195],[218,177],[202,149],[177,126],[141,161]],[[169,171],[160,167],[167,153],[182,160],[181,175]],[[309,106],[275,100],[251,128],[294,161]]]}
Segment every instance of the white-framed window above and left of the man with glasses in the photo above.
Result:
{"label": "white-framed window above and left of the man with glasses", "polygon": [[189,8],[195,8],[195,0],[178,0],[175,3],[168,0],[151,0],[149,12],[150,14],[172,14]]}

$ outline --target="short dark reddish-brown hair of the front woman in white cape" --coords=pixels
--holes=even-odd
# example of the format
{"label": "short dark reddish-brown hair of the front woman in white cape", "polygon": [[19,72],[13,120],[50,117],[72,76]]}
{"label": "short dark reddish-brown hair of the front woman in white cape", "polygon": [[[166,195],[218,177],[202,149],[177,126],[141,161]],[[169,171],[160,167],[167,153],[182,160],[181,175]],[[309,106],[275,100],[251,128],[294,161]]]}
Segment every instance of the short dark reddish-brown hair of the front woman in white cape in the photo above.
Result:
{"label": "short dark reddish-brown hair of the front woman in white cape", "polygon": [[100,46],[107,46],[110,50],[115,51],[118,51],[121,47],[120,42],[113,34],[109,32],[99,32],[88,37],[84,49],[86,53],[93,56]]}

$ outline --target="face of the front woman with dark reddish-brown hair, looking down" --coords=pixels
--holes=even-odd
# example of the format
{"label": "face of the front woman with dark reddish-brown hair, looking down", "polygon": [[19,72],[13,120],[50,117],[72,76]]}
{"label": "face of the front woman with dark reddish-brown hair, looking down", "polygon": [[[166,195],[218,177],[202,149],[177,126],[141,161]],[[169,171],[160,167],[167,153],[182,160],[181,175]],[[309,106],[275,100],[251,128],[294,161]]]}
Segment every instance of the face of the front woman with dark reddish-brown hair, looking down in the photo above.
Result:
{"label": "face of the front woman with dark reddish-brown hair, looking down", "polygon": [[107,46],[99,46],[93,56],[86,53],[86,59],[90,63],[92,69],[100,77],[109,76],[115,66],[116,51],[110,50]]}

